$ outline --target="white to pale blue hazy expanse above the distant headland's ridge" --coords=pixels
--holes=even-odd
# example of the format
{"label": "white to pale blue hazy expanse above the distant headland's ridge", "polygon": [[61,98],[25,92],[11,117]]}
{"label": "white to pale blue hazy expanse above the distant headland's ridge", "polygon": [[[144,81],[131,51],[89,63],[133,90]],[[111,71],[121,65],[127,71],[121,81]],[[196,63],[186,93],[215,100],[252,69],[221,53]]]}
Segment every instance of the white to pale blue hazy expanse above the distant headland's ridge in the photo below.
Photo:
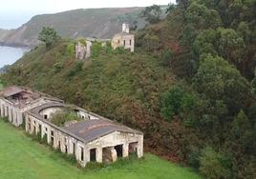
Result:
{"label": "white to pale blue hazy expanse above the distant headland's ridge", "polygon": [[33,15],[90,8],[147,7],[167,5],[175,0],[0,0],[0,28],[14,29]]}

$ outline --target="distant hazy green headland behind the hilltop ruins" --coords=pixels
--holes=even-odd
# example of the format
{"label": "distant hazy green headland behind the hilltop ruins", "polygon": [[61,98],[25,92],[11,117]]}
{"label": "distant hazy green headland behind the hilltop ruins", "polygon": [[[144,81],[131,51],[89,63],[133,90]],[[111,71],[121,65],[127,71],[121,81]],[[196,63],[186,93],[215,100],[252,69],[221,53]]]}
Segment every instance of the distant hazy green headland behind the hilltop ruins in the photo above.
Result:
{"label": "distant hazy green headland behind the hilltop ruins", "polygon": [[145,22],[138,17],[141,10],[143,8],[81,9],[36,15],[22,27],[5,34],[0,41],[10,45],[34,46],[38,43],[39,31],[47,26],[53,27],[63,37],[112,38],[121,30],[123,22],[133,25],[138,21],[139,28],[144,27]]}

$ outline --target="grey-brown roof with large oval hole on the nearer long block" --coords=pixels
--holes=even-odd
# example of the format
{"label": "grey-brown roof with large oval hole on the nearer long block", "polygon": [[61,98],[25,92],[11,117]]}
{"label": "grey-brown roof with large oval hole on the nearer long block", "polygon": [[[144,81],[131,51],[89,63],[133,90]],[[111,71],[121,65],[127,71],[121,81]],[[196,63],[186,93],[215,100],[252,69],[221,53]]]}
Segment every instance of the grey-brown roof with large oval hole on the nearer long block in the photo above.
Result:
{"label": "grey-brown roof with large oval hole on the nearer long block", "polygon": [[[74,124],[71,123],[68,127],[56,127],[55,125],[53,125],[53,123],[51,123],[51,121],[45,120],[43,116],[40,114],[41,110],[54,108],[54,107],[70,108],[70,109],[75,109],[77,111],[82,110],[84,112],[89,113],[90,115],[93,115],[95,118],[91,120],[80,121]],[[93,112],[89,112],[85,109],[80,109],[78,107],[75,107],[74,105],[48,103],[48,104],[41,105],[37,108],[31,109],[30,111],[28,111],[28,113],[31,114],[33,117],[51,125],[53,128],[60,129],[61,131],[75,137],[78,140],[81,140],[84,143],[94,141],[99,137],[102,137],[104,135],[107,135],[115,131],[142,134],[138,130],[130,129],[126,126],[120,125],[110,119],[97,115]]]}

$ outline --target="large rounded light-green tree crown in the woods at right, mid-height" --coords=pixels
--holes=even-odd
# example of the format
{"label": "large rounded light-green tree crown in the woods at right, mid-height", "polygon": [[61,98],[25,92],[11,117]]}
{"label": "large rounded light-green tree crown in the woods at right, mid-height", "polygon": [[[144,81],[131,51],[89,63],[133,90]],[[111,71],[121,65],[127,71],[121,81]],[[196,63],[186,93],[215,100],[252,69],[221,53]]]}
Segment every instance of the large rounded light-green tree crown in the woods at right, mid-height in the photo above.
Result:
{"label": "large rounded light-green tree crown in the woods at right, mid-height", "polygon": [[205,55],[201,59],[193,87],[211,101],[224,101],[231,113],[243,109],[251,98],[248,81],[234,66],[218,56]]}

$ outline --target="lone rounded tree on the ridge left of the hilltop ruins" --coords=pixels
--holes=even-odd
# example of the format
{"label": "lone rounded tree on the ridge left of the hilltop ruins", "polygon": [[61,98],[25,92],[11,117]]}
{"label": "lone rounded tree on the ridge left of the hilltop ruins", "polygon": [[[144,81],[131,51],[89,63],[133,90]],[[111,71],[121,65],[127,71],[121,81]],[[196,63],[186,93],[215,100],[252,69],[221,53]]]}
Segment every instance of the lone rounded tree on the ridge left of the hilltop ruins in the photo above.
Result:
{"label": "lone rounded tree on the ridge left of the hilltop ruins", "polygon": [[56,30],[50,27],[43,27],[39,33],[38,40],[45,43],[46,48],[50,49],[53,47],[53,44],[60,38]]}

